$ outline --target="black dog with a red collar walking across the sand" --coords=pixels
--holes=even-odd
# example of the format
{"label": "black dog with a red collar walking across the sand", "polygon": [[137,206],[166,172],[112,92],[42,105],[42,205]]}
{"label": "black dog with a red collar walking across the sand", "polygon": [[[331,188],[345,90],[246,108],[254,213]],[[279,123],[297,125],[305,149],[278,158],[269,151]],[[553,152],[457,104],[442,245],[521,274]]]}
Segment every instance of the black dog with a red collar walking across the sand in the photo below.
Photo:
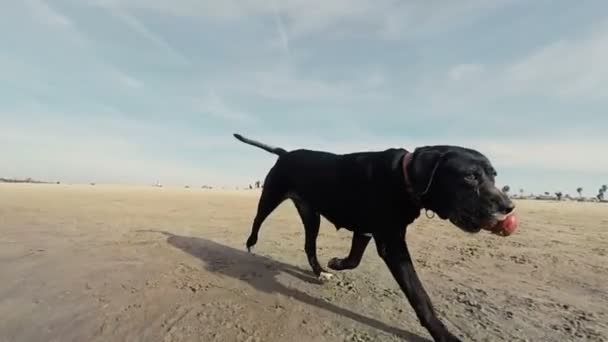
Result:
{"label": "black dog with a red collar walking across the sand", "polygon": [[[481,153],[457,146],[333,154],[294,150],[238,140],[279,156],[270,169],[258,203],[247,248],[258,240],[264,219],[285,199],[293,200],[304,223],[304,250],[318,277],[329,274],[316,255],[320,216],[353,232],[346,258],[333,258],[333,270],[353,269],[373,236],[378,254],[435,341],[459,341],[439,320],[424,290],[405,242],[406,227],[422,209],[469,233],[493,227],[514,209],[494,184],[496,171]],[[495,232],[495,231],[494,231]]]}

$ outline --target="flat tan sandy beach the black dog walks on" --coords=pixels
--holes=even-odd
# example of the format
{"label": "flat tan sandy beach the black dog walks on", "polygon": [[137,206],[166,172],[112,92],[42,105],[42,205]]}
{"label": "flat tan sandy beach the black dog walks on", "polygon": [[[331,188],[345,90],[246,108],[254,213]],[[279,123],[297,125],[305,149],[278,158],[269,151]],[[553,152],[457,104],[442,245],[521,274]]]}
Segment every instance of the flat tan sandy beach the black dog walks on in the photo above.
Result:
{"label": "flat tan sandy beach the black dog walks on", "polygon": [[[319,284],[285,202],[245,252],[256,191],[0,184],[0,341],[426,341],[370,244]],[[466,341],[608,340],[608,206],[519,201],[520,231],[422,216],[416,266]],[[350,233],[323,221],[322,264]]]}

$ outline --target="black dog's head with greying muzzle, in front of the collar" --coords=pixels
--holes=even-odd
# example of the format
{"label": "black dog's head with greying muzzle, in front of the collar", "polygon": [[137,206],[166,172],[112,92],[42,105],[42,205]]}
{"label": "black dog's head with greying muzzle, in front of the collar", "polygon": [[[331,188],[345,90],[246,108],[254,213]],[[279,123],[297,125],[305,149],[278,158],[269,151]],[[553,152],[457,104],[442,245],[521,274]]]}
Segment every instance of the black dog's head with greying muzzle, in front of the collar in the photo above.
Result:
{"label": "black dog's head with greying muzzle, in front of the collar", "polygon": [[478,151],[426,146],[414,151],[408,167],[424,208],[470,233],[492,230],[515,208],[496,187],[496,171]]}

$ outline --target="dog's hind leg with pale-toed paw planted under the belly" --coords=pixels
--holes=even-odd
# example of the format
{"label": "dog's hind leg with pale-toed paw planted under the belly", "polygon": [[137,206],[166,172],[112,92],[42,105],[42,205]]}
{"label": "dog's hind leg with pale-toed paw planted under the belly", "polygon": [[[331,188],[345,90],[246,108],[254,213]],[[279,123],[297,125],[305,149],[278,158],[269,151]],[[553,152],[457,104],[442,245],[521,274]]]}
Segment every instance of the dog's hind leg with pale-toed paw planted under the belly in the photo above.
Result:
{"label": "dog's hind leg with pale-toed paw planted under the belly", "polygon": [[308,263],[319,280],[329,280],[332,278],[332,274],[323,269],[319,264],[319,260],[317,260],[317,237],[319,236],[321,215],[302,200],[292,199],[304,224],[304,251],[306,252]]}

